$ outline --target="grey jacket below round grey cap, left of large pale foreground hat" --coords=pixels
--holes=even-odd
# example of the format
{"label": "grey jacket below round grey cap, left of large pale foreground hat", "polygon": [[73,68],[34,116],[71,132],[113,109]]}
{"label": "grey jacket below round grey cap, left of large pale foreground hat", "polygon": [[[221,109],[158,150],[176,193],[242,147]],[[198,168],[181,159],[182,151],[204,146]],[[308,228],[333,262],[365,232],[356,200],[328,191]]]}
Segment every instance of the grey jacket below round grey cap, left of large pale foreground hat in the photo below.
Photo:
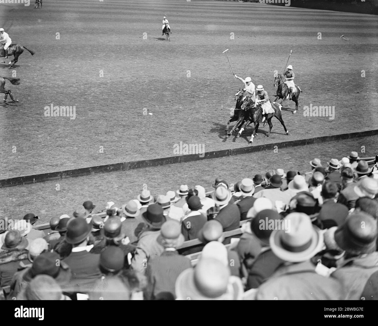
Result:
{"label": "grey jacket below round grey cap, left of large pale foreground hat", "polygon": [[149,283],[147,299],[152,299],[159,292],[170,292],[176,297],[176,279],[181,272],[191,267],[190,260],[179,255],[176,250],[164,251],[158,258],[151,259],[146,271]]}

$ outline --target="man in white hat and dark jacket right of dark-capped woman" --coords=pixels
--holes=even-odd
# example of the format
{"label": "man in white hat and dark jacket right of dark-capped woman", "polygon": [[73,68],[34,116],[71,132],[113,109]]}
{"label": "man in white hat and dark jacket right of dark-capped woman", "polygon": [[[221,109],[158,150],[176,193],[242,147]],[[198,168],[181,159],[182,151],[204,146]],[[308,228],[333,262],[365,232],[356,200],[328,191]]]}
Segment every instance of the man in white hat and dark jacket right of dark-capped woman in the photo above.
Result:
{"label": "man in white hat and dark jacket right of dark-capped woman", "polygon": [[231,197],[231,191],[224,186],[218,186],[212,195],[214,202],[219,205],[219,213],[215,219],[222,224],[223,231],[239,228],[240,211],[238,206],[230,203]]}

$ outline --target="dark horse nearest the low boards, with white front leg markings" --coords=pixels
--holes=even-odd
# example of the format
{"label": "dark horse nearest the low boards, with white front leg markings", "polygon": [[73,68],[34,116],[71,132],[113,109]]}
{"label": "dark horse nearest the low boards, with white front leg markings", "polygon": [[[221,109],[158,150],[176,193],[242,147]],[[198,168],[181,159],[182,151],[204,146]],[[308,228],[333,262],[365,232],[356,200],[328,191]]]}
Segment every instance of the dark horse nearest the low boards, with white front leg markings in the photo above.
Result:
{"label": "dark horse nearest the low boards, with white front leg markings", "polygon": [[[272,104],[272,108],[274,110],[274,113],[268,113],[268,116],[266,118],[266,121],[268,121],[268,124],[269,124],[269,132],[268,132],[268,135],[266,135],[266,137],[269,137],[270,131],[272,130],[273,124],[272,124],[271,120],[272,120],[273,116],[275,116],[279,120],[279,122],[283,126],[283,129],[285,129],[285,132],[288,135],[289,132],[286,129],[285,123],[282,120],[281,110],[280,110],[278,104],[276,104],[276,103],[271,103],[271,104]],[[253,138],[255,137],[254,135],[257,135],[257,130],[259,129],[259,124],[262,121],[262,109],[261,109],[260,105],[258,105],[256,107],[255,103],[250,98],[247,98],[243,102],[243,104],[242,104],[242,110],[244,110],[244,109],[249,112],[249,117],[248,117],[248,120],[244,123],[244,125],[240,128],[240,131],[239,131],[239,133],[238,133],[238,135],[236,137],[239,138],[240,135],[242,134],[243,130],[251,122],[253,122],[254,125],[255,125],[255,127],[254,127],[253,133],[251,135],[251,140],[249,140],[252,143],[253,142]]]}

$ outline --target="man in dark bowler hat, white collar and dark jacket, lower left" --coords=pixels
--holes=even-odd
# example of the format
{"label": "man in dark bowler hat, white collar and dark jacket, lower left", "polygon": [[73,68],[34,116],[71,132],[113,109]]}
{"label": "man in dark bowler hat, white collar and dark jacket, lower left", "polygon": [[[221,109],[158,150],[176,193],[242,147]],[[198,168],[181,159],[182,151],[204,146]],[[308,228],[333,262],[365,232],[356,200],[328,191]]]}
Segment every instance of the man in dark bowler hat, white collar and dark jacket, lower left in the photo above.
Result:
{"label": "man in dark bowler hat, white collar and dark jacket, lower left", "polygon": [[85,290],[101,275],[100,255],[89,253],[93,245],[87,245],[91,231],[91,224],[82,218],[71,219],[67,224],[65,241],[72,245],[70,255],[64,259],[72,271],[68,292]]}

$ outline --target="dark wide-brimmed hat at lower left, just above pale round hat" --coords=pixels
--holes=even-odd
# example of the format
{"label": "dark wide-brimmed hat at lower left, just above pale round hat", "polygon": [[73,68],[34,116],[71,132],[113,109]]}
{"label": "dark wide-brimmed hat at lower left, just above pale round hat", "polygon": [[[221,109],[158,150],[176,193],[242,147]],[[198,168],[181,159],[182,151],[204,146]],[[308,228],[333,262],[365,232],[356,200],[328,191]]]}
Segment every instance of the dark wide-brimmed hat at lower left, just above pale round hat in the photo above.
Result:
{"label": "dark wide-brimmed hat at lower left, just above pale round hat", "polygon": [[[59,264],[56,264],[58,261]],[[56,252],[45,252],[37,256],[31,268],[24,274],[23,280],[29,282],[41,274],[51,276],[58,284],[66,284],[71,279],[70,268]]]}

